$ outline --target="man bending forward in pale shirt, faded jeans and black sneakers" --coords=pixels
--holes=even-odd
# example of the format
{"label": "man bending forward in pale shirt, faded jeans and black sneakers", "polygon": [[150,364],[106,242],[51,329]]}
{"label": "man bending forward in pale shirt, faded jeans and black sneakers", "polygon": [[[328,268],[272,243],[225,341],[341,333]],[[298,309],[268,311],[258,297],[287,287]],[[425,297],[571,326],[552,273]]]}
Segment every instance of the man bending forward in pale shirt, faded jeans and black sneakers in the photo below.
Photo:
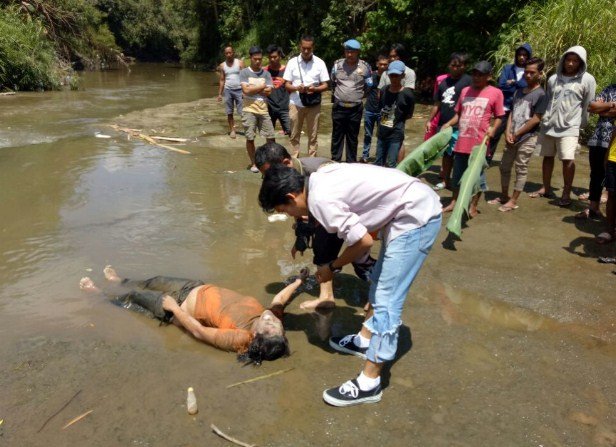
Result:
{"label": "man bending forward in pale shirt, faded jeans and black sneakers", "polygon": [[381,400],[381,370],[394,359],[402,307],[441,225],[439,197],[430,187],[401,171],[363,164],[329,164],[310,176],[273,166],[259,192],[268,212],[291,216],[310,213],[347,247],[317,279],[329,281],[341,268],[370,250],[371,233],[381,236],[381,251],[370,285],[370,310],[358,334],[332,337],[337,351],[365,359],[356,379],[323,392],[330,405],[346,407]]}

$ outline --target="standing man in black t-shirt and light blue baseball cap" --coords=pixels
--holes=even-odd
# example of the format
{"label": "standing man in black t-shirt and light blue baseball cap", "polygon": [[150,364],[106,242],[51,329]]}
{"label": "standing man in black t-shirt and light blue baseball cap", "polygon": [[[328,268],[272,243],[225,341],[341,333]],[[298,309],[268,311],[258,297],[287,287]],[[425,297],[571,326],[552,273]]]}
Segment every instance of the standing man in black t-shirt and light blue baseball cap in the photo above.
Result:
{"label": "standing man in black t-shirt and light blue baseball cap", "polygon": [[413,91],[403,88],[405,66],[401,61],[393,61],[387,68],[391,84],[383,87],[379,99],[381,119],[374,164],[395,168],[398,153],[404,141],[404,124],[413,116],[415,98]]}

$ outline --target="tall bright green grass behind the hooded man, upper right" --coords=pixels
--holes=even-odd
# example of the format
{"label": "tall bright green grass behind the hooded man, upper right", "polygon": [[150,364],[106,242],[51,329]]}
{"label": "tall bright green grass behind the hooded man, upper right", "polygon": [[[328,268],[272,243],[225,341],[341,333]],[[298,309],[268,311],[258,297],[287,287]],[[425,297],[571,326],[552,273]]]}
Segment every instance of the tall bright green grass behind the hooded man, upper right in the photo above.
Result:
{"label": "tall bright green grass behind the hooded man, upper right", "polygon": [[616,82],[616,6],[614,0],[536,0],[512,17],[514,25],[498,35],[492,53],[497,68],[511,63],[515,48],[529,42],[533,55],[553,73],[568,48],[582,45],[588,52],[588,72],[597,88]]}

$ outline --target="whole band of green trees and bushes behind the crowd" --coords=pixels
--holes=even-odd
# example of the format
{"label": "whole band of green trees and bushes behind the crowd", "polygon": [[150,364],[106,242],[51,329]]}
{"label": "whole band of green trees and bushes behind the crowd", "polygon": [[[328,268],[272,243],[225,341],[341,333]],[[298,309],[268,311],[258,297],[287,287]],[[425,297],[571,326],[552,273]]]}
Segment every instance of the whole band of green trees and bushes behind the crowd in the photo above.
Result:
{"label": "whole band of green trees and bushes behind the crowd", "polygon": [[[67,68],[120,66],[130,57],[213,67],[226,43],[277,43],[297,52],[304,33],[329,64],[351,37],[372,60],[395,42],[420,79],[446,70],[449,54],[491,55],[500,68],[522,41],[553,67],[568,46],[589,52],[600,86],[614,79],[613,0],[0,0],[0,83],[54,88]],[[126,55],[126,56],[125,56]]]}

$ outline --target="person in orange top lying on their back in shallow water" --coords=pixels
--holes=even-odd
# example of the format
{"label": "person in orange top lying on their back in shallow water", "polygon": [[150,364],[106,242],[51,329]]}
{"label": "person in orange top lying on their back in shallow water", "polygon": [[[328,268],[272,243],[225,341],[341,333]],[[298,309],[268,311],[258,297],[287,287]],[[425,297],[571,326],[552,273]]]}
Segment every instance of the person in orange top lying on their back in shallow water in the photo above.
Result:
{"label": "person in orange top lying on their back in shallow water", "polygon": [[[308,277],[303,269],[300,277],[281,290],[269,309],[251,296],[224,289],[203,281],[155,276],[143,281],[120,278],[107,266],[105,278],[131,288],[114,298],[114,302],[149,310],[155,318],[183,327],[193,337],[225,351],[234,351],[238,358],[260,364],[289,355],[282,317],[287,302]],[[79,286],[88,292],[102,292],[94,282],[82,278]]]}

